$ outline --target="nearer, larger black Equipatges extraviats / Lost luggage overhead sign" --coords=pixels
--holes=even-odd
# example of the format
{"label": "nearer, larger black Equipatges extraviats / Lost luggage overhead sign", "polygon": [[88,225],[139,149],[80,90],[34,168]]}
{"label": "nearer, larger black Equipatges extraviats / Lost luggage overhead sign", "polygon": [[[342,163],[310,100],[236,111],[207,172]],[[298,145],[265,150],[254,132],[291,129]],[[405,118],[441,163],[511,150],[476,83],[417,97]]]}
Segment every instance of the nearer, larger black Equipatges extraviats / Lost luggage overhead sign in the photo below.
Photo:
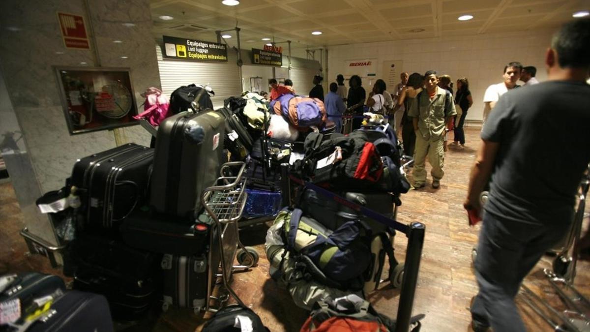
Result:
{"label": "nearer, larger black Equipatges extraviats / Lost luggage overhead sign", "polygon": [[166,58],[192,61],[227,62],[227,46],[211,41],[162,36]]}

